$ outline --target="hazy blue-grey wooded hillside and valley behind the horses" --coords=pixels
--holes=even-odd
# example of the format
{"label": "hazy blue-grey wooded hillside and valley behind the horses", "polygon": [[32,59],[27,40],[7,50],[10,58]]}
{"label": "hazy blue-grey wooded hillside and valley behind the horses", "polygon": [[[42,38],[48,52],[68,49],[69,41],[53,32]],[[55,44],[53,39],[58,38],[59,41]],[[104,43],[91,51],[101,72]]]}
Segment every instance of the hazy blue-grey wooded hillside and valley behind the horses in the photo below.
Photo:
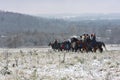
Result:
{"label": "hazy blue-grey wooded hillside and valley behind the horses", "polygon": [[0,47],[47,46],[54,39],[95,33],[98,41],[120,44],[120,15],[45,18],[0,11]]}

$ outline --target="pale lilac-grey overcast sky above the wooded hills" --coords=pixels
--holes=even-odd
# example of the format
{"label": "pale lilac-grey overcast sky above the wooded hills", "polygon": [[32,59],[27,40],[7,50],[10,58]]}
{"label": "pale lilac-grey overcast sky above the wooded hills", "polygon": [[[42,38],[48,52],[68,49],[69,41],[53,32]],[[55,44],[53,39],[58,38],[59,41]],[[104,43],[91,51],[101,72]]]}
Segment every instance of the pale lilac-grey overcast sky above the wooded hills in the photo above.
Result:
{"label": "pale lilac-grey overcast sky above the wooded hills", "polygon": [[0,0],[0,10],[25,14],[120,13],[120,0]]}

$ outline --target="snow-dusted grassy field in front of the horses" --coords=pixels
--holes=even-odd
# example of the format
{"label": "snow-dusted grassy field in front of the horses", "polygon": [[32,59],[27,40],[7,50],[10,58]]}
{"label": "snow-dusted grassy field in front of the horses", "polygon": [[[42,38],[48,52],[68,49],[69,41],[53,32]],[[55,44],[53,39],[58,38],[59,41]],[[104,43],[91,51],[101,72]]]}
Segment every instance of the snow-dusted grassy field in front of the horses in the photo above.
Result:
{"label": "snow-dusted grassy field in front of the horses", "polygon": [[120,80],[120,46],[103,53],[0,49],[0,80]]}

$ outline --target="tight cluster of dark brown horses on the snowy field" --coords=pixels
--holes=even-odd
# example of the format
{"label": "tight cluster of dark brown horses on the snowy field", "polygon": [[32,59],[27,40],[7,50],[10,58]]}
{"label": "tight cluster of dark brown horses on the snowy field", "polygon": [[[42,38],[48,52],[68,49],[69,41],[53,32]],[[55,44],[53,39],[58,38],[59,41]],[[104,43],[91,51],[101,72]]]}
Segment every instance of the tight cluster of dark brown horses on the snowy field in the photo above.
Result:
{"label": "tight cluster of dark brown horses on the snowy field", "polygon": [[93,42],[84,42],[77,38],[71,38],[71,41],[63,41],[63,42],[50,42],[49,46],[52,47],[54,51],[73,51],[73,52],[103,52],[103,47],[106,49],[105,43],[101,41]]}

